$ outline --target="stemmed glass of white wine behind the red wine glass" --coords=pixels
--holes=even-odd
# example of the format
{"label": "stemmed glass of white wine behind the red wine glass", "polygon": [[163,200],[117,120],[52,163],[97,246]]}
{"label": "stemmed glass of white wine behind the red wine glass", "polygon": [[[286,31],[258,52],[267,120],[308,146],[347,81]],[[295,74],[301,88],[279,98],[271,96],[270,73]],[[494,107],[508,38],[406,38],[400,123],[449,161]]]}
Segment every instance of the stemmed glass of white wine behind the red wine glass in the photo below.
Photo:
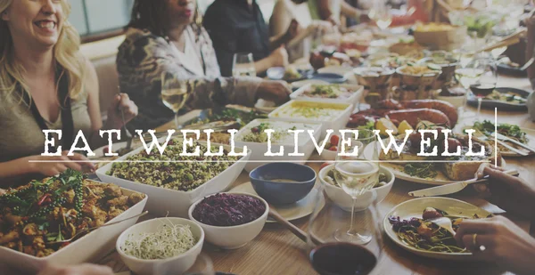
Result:
{"label": "stemmed glass of white wine behind the red wine glass", "polygon": [[376,141],[374,132],[359,130],[358,137],[351,137],[349,143],[345,143],[341,139],[338,144],[338,154],[333,171],[334,180],[340,184],[342,190],[353,198],[349,229],[340,228],[334,233],[334,238],[339,241],[362,245],[372,239],[371,235],[356,229],[354,216],[358,196],[371,190],[379,181],[379,153]]}

